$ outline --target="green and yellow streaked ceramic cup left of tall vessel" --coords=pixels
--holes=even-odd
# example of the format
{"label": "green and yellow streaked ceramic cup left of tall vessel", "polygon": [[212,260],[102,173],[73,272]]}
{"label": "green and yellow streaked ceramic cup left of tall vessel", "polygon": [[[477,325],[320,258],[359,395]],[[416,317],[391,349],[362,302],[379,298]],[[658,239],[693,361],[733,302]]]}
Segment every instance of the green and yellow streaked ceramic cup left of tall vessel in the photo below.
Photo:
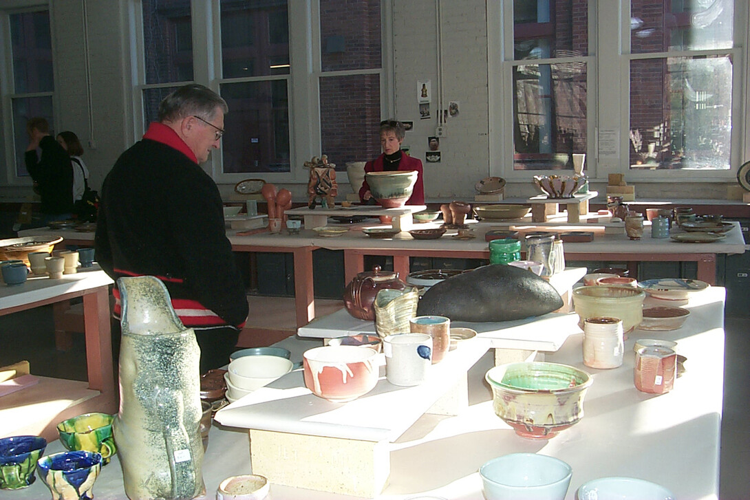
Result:
{"label": "green and yellow streaked ceramic cup left of tall vessel", "polygon": [[68,418],[57,424],[60,442],[70,451],[95,451],[101,454],[102,465],[110,463],[117,453],[112,434],[113,415],[107,413],[86,413]]}

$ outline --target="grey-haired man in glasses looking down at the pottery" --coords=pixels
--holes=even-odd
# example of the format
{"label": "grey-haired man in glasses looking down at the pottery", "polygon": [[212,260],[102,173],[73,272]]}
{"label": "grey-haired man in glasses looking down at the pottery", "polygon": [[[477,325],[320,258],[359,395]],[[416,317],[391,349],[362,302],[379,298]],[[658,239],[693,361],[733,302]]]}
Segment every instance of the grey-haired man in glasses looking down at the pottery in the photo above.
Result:
{"label": "grey-haired man in glasses looking down at the pottery", "polygon": [[[219,147],[228,110],[203,85],[166,96],[158,121],[104,179],[95,235],[97,261],[113,280],[163,281],[182,323],[195,331],[201,373],[229,362],[248,316],[219,190],[199,165]],[[113,294],[118,317],[116,287]]]}

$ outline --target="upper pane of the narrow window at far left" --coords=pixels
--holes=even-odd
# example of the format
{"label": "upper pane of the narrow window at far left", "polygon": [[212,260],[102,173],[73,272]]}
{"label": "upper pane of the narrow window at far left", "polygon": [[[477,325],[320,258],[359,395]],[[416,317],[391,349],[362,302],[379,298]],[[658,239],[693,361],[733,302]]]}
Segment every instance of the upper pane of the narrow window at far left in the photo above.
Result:
{"label": "upper pane of the narrow window at far left", "polygon": [[[13,50],[13,91],[16,94],[51,92],[54,79],[49,12],[42,10],[15,13],[9,17]],[[22,151],[25,150],[26,146]]]}

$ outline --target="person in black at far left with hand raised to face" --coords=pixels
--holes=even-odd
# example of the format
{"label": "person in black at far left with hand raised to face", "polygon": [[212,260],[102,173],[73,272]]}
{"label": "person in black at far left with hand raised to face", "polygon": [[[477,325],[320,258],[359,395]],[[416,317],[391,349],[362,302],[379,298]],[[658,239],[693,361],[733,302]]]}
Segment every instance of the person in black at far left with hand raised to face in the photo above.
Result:
{"label": "person in black at far left with hand raised to face", "polygon": [[[26,170],[41,196],[43,225],[73,216],[73,167],[71,158],[52,136],[44,118],[31,118],[26,124],[28,148]],[[37,149],[40,151],[37,153]]]}

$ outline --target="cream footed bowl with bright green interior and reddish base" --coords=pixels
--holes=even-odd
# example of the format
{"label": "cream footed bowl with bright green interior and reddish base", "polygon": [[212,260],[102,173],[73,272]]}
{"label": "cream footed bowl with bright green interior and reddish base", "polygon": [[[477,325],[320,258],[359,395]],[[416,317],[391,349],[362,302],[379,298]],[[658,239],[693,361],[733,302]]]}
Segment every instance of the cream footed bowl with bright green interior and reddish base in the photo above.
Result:
{"label": "cream footed bowl with bright green interior and reddish base", "polygon": [[518,436],[549,439],[583,418],[583,397],[592,379],[565,364],[511,363],[484,376],[495,414]]}

